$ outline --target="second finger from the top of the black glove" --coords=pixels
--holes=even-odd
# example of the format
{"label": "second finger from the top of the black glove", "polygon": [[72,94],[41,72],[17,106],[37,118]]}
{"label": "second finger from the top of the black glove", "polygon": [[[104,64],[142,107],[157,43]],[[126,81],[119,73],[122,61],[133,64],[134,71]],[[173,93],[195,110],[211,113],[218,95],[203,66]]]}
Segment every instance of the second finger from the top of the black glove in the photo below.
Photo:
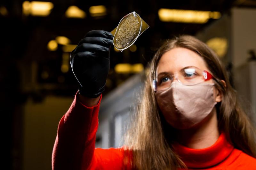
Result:
{"label": "second finger from the top of the black glove", "polygon": [[112,39],[103,37],[85,37],[78,43],[78,46],[83,43],[99,44],[104,47],[109,47],[112,44]]}

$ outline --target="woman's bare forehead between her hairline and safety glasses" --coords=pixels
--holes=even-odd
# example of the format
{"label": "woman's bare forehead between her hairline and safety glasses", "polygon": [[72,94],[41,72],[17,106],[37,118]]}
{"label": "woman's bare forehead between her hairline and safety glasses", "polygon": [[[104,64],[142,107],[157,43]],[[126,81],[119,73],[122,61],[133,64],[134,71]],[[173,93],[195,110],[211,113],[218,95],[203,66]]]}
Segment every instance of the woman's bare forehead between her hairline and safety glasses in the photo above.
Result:
{"label": "woman's bare forehead between her hairline and safety glasses", "polygon": [[172,48],[160,58],[157,65],[157,72],[176,72],[188,66],[208,70],[204,59],[194,51],[180,47]]}

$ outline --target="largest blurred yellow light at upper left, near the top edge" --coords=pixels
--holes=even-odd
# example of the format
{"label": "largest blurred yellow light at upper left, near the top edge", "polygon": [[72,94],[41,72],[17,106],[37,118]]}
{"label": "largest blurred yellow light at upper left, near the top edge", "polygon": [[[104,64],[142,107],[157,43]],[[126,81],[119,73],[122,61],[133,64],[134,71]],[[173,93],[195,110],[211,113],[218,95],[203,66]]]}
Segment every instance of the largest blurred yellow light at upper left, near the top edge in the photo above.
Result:
{"label": "largest blurred yellow light at upper left, near the top edge", "polygon": [[51,2],[24,1],[22,4],[23,14],[45,17],[51,13],[53,4]]}

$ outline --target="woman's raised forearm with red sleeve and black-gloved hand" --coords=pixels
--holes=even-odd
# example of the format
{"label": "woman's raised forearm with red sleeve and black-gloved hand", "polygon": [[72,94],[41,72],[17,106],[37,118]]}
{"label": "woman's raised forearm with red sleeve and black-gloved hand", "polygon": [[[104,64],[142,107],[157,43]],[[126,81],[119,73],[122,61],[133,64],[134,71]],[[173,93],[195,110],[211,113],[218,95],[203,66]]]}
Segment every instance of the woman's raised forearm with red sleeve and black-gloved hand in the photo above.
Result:
{"label": "woman's raised forearm with red sleeve and black-gloved hand", "polygon": [[70,64],[79,90],[59,123],[52,153],[53,170],[84,170],[92,162],[112,39],[107,31],[89,31],[71,52]]}

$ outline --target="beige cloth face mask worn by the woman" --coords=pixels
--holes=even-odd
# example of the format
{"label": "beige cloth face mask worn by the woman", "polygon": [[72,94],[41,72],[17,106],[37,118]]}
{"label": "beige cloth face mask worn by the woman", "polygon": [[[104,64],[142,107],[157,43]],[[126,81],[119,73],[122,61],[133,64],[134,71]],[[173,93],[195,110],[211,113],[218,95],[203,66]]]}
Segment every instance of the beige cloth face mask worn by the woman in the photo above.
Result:
{"label": "beige cloth face mask worn by the woman", "polygon": [[168,89],[157,91],[157,103],[166,121],[176,129],[188,129],[204,120],[217,103],[213,85],[172,82]]}

